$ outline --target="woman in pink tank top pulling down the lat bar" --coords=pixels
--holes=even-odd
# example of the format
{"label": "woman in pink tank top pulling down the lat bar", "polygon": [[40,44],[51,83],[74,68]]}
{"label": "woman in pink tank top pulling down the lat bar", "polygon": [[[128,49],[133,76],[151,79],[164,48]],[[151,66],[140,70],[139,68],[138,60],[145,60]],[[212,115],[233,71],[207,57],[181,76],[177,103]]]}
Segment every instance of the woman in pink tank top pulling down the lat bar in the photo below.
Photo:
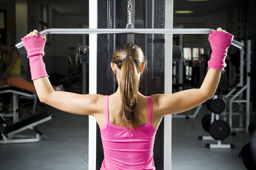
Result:
{"label": "woman in pink tank top pulling down the lat bar", "polygon": [[102,96],[54,91],[42,60],[45,37],[34,30],[22,41],[40,101],[65,112],[92,115],[97,121],[104,148],[101,169],[155,169],[153,143],[162,118],[192,109],[213,97],[232,38],[221,28],[210,35],[213,53],[199,89],[149,97],[138,92],[139,77],[146,60],[141,48],[135,44],[115,50],[111,68],[117,74],[118,90],[110,96]]}

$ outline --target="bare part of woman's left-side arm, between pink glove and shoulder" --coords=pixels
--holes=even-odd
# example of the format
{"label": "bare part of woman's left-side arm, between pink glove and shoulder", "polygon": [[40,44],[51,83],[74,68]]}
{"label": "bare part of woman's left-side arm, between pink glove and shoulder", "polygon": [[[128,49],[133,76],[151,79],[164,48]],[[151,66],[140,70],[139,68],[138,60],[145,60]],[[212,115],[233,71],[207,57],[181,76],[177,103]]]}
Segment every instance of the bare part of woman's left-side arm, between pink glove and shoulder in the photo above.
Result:
{"label": "bare part of woman's left-side arm, between pink glove and shoulder", "polygon": [[40,102],[72,114],[94,115],[104,112],[104,96],[54,91],[48,77],[33,81]]}

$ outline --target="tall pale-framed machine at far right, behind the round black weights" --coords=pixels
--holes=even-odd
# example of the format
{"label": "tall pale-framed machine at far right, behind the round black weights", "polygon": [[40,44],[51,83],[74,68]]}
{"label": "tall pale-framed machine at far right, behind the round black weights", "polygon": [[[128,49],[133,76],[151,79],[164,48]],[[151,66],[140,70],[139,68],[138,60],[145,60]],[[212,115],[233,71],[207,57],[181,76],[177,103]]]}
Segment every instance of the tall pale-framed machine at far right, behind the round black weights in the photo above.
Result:
{"label": "tall pale-framed machine at far right, behind the round black weights", "polygon": [[[244,41],[241,41],[244,43]],[[244,56],[246,57],[244,59]],[[246,62],[244,61],[246,60]],[[246,43],[246,54],[245,50],[240,51],[240,82],[229,91],[228,94],[223,95],[222,99],[225,100],[228,107],[224,112],[224,120],[226,120],[226,115],[229,115],[229,126],[231,131],[243,131],[248,133],[249,118],[250,118],[250,93],[251,93],[251,40]],[[246,63],[246,65],[245,65]],[[246,67],[246,73],[244,73],[244,68]],[[244,76],[246,75],[246,82],[244,84]],[[238,90],[238,91],[237,91]],[[246,95],[245,95],[246,94]],[[234,104],[238,105],[238,112],[234,112]],[[245,106],[245,111],[243,107]],[[239,126],[233,127],[233,115],[239,116]],[[245,121],[243,121],[245,118]],[[245,122],[245,124],[244,124]]]}

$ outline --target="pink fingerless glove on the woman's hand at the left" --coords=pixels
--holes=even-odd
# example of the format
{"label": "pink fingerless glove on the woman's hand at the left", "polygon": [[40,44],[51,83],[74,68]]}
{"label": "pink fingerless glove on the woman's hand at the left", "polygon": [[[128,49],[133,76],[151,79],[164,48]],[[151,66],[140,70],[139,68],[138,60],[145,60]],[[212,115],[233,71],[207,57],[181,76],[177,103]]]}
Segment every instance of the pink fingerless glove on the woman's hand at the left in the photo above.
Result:
{"label": "pink fingerless glove on the woman's hand at the left", "polygon": [[30,60],[31,79],[36,80],[40,77],[49,77],[45,70],[45,63],[43,62],[45,38],[42,35],[33,35],[22,38],[21,40],[27,50],[27,57]]}

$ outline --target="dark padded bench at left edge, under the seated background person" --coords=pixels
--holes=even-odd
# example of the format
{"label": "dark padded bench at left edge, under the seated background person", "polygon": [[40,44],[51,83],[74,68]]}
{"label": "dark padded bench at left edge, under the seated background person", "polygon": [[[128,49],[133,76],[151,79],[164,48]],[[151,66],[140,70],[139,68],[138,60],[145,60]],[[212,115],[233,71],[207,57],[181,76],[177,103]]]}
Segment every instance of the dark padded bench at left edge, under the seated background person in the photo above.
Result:
{"label": "dark padded bench at left edge, under the seated background person", "polygon": [[13,94],[13,111],[12,114],[5,114],[4,117],[13,117],[13,123],[18,122],[19,120],[19,96],[28,97],[29,99],[34,99],[33,112],[36,111],[37,104],[37,94],[31,93],[27,90],[22,90],[21,88],[2,86],[0,87],[0,94],[12,93]]}

